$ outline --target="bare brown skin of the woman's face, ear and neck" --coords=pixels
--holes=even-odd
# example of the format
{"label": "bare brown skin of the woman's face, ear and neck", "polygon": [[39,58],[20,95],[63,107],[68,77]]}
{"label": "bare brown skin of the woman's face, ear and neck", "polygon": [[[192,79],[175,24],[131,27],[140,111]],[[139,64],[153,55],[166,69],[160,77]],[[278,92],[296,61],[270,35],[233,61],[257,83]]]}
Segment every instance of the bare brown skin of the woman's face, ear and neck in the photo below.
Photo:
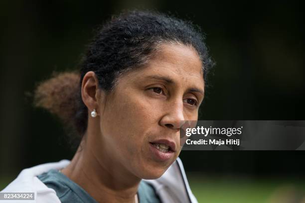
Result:
{"label": "bare brown skin of the woman's face, ear and neck", "polygon": [[[159,178],[179,155],[181,121],[198,119],[202,74],[197,52],[180,44],[162,45],[145,67],[121,76],[108,95],[88,72],[81,87],[88,128],[62,173],[99,203],[134,203],[141,179]],[[90,116],[93,109],[96,117]],[[175,144],[164,159],[151,144],[159,139]]]}

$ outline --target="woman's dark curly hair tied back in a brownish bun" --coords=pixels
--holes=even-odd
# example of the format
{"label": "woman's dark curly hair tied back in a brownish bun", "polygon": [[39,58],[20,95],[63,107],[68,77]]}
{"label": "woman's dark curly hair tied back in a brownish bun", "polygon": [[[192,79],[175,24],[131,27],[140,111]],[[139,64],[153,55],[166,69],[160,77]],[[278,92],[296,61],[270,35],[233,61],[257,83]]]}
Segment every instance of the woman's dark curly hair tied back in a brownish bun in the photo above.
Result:
{"label": "woman's dark curly hair tied back in a brownish bun", "polygon": [[128,11],[112,17],[96,33],[83,57],[80,73],[61,73],[41,83],[35,104],[57,114],[69,129],[73,143],[79,144],[88,122],[88,109],[81,98],[84,75],[95,72],[99,88],[114,90],[117,79],[149,63],[162,44],[178,43],[194,48],[201,61],[203,77],[213,62],[200,29],[190,21],[152,11]]}

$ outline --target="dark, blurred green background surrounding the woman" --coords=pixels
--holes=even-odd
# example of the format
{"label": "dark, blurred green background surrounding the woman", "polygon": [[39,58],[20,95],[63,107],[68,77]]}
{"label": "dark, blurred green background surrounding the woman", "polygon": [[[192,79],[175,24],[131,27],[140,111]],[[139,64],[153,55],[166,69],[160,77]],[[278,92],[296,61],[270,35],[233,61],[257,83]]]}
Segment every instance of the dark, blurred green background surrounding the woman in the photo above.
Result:
{"label": "dark, blurred green background surrounding the woman", "polygon": [[[304,3],[193,0],[0,2],[0,190],[23,168],[71,159],[60,121],[26,97],[77,66],[93,29],[122,9],[190,19],[217,65],[199,119],[305,120]],[[183,151],[202,203],[301,202],[304,151]],[[286,200],[286,199],[287,200]],[[286,202],[285,202],[286,201]]]}

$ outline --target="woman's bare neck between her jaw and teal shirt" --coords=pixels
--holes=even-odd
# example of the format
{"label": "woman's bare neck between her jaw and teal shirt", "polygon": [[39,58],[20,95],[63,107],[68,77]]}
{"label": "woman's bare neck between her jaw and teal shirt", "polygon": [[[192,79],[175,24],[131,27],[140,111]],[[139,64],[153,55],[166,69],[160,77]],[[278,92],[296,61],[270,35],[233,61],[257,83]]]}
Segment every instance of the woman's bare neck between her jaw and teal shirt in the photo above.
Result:
{"label": "woman's bare neck between her jaw and teal shirt", "polygon": [[141,179],[111,158],[112,152],[107,153],[106,146],[98,146],[97,143],[102,142],[97,142],[93,136],[84,135],[71,163],[62,173],[99,203],[135,203]]}

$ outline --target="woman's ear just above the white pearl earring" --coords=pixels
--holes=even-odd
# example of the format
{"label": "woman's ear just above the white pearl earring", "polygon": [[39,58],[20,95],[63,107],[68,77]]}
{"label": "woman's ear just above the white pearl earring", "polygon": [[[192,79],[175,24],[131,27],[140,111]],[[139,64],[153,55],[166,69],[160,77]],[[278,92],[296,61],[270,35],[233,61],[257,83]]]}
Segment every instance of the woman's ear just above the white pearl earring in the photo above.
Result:
{"label": "woman's ear just above the white pearl earring", "polygon": [[82,81],[81,93],[82,100],[87,106],[89,112],[93,111],[93,109],[98,109],[100,96],[98,87],[99,81],[96,74],[93,71],[87,72]]}

